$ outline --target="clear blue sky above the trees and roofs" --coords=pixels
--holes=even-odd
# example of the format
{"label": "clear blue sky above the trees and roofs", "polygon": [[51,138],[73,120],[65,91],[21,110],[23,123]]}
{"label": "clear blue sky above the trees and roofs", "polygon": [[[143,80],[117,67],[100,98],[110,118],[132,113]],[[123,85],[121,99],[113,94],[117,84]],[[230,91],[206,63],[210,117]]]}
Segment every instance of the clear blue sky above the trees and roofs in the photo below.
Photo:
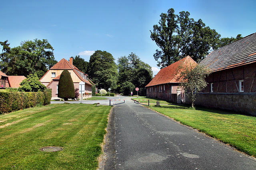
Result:
{"label": "clear blue sky above the trees and roofs", "polygon": [[76,55],[89,61],[96,50],[116,60],[133,52],[156,74],[150,30],[169,8],[190,12],[222,37],[256,32],[256,0],[1,0],[0,41],[17,47],[48,39],[57,61]]}

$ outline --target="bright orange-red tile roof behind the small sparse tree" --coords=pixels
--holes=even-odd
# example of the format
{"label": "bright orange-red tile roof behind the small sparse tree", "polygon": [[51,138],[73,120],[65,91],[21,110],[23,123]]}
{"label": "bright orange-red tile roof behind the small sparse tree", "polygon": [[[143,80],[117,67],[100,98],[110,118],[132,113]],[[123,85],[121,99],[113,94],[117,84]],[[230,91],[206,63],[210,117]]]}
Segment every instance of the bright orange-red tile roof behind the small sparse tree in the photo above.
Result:
{"label": "bright orange-red tile roof behind the small sparse tree", "polygon": [[158,84],[166,84],[166,83],[179,83],[177,82],[177,73],[178,70],[184,66],[184,65],[196,65],[197,63],[190,57],[187,56],[180,61],[177,61],[175,63],[172,63],[171,65],[162,68],[156,76],[146,85],[146,87],[149,86],[155,86]]}

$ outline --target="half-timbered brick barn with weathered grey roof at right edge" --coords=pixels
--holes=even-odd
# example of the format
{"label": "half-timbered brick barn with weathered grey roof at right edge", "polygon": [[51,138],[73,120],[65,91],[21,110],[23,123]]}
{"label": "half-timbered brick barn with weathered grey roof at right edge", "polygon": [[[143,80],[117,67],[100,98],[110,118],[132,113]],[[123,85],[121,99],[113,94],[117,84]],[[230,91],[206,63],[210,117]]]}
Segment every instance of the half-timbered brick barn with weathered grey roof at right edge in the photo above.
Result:
{"label": "half-timbered brick barn with weathered grey roof at right edge", "polygon": [[208,86],[195,104],[256,115],[256,33],[210,53]]}

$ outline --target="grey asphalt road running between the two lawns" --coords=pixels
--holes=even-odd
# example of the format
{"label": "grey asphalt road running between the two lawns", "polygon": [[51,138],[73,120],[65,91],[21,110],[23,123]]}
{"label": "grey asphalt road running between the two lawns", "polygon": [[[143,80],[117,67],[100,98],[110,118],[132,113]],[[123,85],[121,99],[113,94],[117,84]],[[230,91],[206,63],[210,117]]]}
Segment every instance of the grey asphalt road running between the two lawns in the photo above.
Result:
{"label": "grey asphalt road running between the two lawns", "polygon": [[[120,97],[125,99],[125,97]],[[105,170],[255,170],[256,159],[130,98],[114,106]]]}

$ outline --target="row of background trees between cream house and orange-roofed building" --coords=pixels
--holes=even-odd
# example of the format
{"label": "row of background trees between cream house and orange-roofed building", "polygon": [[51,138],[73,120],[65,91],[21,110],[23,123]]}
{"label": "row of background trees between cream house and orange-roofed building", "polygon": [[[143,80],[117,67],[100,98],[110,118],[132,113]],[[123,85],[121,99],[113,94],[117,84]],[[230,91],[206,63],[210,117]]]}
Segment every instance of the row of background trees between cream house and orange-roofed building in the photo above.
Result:
{"label": "row of background trees between cream house and orange-roofed building", "polygon": [[125,95],[135,92],[140,88],[139,94],[146,95],[145,86],[152,80],[151,66],[144,63],[135,54],[131,53],[118,58],[106,52],[97,50],[90,57],[90,61],[84,61],[79,55],[73,57],[73,64],[79,70],[88,73],[89,78],[96,83],[99,89],[111,88],[116,93]]}

